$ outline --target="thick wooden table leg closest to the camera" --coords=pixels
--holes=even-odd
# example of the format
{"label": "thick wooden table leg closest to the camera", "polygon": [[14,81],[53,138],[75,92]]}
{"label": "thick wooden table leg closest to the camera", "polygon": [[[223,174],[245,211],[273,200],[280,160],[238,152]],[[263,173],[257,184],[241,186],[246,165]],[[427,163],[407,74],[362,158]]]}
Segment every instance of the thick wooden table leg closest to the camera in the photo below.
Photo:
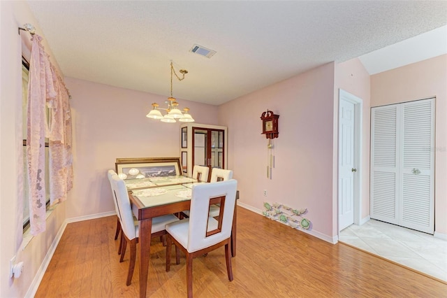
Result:
{"label": "thick wooden table leg closest to the camera", "polygon": [[140,220],[140,298],[146,297],[147,273],[149,272],[149,259],[151,253],[152,218]]}

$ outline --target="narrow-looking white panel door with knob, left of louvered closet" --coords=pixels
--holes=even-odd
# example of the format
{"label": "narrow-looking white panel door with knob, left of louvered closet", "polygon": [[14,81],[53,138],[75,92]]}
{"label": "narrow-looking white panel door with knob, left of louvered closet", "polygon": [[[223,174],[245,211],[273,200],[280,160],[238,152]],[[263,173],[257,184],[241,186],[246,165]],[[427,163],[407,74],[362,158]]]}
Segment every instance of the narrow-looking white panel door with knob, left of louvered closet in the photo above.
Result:
{"label": "narrow-looking white panel door with knob, left of louvered closet", "polygon": [[354,104],[339,101],[339,230],[354,223]]}

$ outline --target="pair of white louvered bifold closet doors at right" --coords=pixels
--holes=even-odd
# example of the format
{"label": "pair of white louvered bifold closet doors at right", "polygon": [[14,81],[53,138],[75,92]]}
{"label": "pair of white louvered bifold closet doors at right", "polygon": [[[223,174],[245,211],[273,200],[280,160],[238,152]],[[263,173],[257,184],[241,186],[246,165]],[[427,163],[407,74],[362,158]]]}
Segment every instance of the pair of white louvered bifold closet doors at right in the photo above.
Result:
{"label": "pair of white louvered bifold closet doors at right", "polygon": [[434,233],[434,99],[372,108],[371,218]]}

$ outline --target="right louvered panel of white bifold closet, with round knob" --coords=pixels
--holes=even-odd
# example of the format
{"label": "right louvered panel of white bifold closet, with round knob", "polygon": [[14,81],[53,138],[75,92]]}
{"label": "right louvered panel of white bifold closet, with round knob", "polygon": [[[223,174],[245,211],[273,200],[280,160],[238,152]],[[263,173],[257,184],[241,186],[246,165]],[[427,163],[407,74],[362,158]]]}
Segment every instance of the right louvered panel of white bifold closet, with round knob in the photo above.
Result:
{"label": "right louvered panel of white bifold closet, with round knob", "polygon": [[400,225],[434,233],[434,99],[402,104]]}

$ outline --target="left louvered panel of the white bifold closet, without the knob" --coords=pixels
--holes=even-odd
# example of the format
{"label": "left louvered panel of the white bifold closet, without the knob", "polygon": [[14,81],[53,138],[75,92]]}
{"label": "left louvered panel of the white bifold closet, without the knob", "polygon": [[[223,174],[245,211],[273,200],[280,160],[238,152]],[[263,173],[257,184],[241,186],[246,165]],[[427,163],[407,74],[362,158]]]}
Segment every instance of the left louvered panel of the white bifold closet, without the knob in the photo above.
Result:
{"label": "left louvered panel of the white bifold closet, without the knob", "polygon": [[371,123],[371,218],[397,224],[397,106],[372,108]]}

